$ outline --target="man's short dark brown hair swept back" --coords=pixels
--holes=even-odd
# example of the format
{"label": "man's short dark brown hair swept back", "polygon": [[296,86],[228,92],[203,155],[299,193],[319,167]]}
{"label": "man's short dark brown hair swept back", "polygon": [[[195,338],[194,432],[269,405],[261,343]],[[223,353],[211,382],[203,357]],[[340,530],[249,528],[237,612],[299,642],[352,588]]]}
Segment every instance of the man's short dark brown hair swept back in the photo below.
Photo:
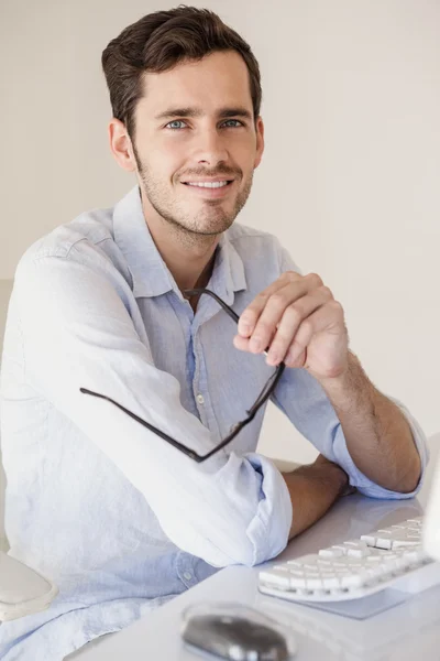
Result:
{"label": "man's short dark brown hair swept back", "polygon": [[102,68],[113,117],[134,138],[134,109],[143,94],[143,74],[161,73],[185,59],[216,51],[237,51],[249,75],[254,120],[262,101],[258,63],[250,45],[209,9],[179,7],[147,14],[125,28],[102,52]]}

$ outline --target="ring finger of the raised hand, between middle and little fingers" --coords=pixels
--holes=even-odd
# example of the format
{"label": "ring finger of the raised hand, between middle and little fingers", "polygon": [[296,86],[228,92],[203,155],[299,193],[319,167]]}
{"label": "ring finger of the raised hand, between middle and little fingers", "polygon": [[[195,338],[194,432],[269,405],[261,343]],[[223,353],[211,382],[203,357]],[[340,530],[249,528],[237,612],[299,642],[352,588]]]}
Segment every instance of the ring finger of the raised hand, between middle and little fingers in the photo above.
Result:
{"label": "ring finger of the raised hand, between middle and little fingers", "polygon": [[278,365],[284,360],[301,322],[319,307],[333,300],[328,286],[320,286],[312,293],[290,303],[284,311],[277,332],[271,343],[266,362]]}

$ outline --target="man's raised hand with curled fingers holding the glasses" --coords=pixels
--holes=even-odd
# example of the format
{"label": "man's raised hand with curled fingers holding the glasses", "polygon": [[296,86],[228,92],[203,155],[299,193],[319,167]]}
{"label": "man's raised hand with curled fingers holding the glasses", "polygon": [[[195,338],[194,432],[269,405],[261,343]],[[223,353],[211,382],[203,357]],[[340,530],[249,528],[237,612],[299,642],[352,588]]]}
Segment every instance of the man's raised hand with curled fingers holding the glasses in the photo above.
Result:
{"label": "man's raised hand with curled fingers holding the glasses", "polygon": [[234,346],[266,362],[305,368],[315,377],[341,376],[349,365],[349,337],[341,304],[316,273],[283,273],[243,311]]}

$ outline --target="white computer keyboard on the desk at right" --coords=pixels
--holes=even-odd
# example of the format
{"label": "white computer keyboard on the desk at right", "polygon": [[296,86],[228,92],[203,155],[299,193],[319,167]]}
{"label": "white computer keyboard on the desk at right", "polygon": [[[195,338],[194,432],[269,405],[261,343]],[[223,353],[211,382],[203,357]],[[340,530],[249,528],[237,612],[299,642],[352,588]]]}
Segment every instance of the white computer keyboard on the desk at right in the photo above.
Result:
{"label": "white computer keyboard on the desk at right", "polygon": [[260,592],[293,602],[359,599],[387,587],[417,593],[440,583],[421,548],[422,518],[363,534],[258,573]]}

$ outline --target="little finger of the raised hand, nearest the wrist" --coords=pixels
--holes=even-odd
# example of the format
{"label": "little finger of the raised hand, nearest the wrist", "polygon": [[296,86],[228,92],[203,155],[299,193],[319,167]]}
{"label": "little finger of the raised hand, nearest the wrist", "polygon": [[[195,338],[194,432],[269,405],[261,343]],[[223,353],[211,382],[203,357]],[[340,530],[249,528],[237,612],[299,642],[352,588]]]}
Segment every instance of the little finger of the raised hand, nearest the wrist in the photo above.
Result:
{"label": "little finger of the raised hand, nearest the wrist", "polygon": [[285,358],[285,364],[288,367],[297,367],[298,357],[307,350],[314,335],[344,327],[342,305],[338,301],[329,301],[301,322]]}

